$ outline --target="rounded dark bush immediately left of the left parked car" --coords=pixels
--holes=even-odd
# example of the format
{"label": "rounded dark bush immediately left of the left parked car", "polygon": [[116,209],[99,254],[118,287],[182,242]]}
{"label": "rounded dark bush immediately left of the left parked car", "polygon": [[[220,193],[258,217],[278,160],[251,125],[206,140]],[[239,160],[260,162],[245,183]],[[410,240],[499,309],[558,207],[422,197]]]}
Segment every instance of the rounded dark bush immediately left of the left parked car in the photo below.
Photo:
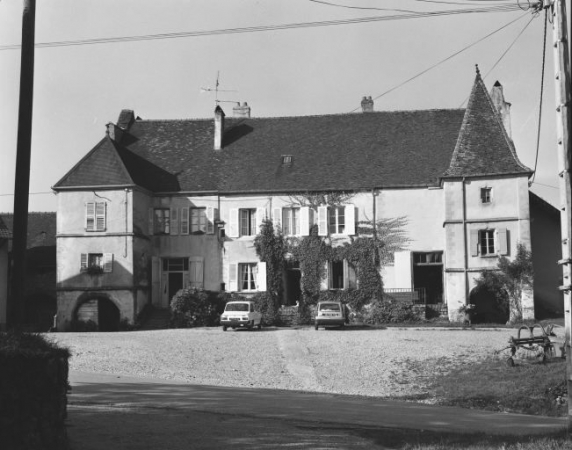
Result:
{"label": "rounded dark bush immediately left of the left parked car", "polygon": [[194,288],[181,289],[171,300],[171,324],[175,328],[218,325],[227,296]]}

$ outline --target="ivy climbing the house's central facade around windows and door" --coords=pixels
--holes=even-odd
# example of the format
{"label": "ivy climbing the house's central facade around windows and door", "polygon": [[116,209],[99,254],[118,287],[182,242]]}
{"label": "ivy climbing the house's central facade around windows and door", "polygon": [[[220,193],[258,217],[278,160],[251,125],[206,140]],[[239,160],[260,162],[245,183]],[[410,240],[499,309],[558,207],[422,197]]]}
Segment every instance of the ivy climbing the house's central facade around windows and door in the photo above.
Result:
{"label": "ivy climbing the house's central facade around windows and door", "polygon": [[[305,193],[290,197],[293,206],[339,206],[350,200],[347,193]],[[366,218],[367,219],[367,218]],[[310,228],[309,236],[285,237],[281,230],[275,230],[271,220],[265,220],[260,234],[254,240],[256,253],[266,262],[268,291],[277,307],[284,287],[282,273],[287,260],[298,261],[301,278],[302,299],[298,308],[299,320],[309,315],[309,305],[320,299],[336,299],[360,310],[369,303],[383,300],[381,268],[393,259],[396,251],[403,249],[409,239],[405,231],[407,219],[381,219],[375,223],[364,220],[358,223],[356,236],[349,241],[319,236],[318,226]],[[327,263],[344,261],[355,270],[357,289],[322,291],[322,281],[327,275]]]}

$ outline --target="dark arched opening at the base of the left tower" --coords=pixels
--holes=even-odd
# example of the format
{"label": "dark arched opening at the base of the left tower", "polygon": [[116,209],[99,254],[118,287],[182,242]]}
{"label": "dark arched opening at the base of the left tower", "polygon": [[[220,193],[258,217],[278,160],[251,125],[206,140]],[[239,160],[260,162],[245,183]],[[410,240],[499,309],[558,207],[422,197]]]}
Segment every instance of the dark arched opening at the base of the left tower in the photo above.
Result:
{"label": "dark arched opening at the base of the left tower", "polygon": [[121,309],[109,294],[85,292],[78,297],[72,318],[74,321],[92,321],[99,331],[118,331]]}

